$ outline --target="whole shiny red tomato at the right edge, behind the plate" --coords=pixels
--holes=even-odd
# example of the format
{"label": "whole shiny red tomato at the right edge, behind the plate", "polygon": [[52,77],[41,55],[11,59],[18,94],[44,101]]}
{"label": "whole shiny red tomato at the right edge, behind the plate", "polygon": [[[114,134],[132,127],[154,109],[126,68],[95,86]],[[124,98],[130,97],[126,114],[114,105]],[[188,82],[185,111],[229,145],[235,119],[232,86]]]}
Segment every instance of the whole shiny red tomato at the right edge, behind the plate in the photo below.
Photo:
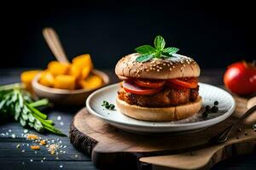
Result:
{"label": "whole shiny red tomato at the right edge, behind the plate", "polygon": [[228,66],[224,73],[224,84],[231,92],[239,95],[256,92],[256,66],[245,61]]}

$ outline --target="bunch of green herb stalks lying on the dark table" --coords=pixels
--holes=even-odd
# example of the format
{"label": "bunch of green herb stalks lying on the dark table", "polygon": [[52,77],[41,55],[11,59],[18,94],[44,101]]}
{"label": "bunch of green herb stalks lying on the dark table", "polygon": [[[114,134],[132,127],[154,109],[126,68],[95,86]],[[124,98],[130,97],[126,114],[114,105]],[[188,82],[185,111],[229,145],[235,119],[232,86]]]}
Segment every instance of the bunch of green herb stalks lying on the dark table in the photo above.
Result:
{"label": "bunch of green herb stalks lying on the dark table", "polygon": [[[49,105],[48,99],[40,99],[33,102],[31,95],[17,84],[14,88],[0,87],[0,116],[13,116],[15,121],[20,122],[22,127],[32,127],[38,132],[45,130],[65,135],[54,127],[52,120],[47,115],[38,111],[37,107]],[[9,86],[10,87],[10,86]],[[66,135],[65,135],[66,136]]]}

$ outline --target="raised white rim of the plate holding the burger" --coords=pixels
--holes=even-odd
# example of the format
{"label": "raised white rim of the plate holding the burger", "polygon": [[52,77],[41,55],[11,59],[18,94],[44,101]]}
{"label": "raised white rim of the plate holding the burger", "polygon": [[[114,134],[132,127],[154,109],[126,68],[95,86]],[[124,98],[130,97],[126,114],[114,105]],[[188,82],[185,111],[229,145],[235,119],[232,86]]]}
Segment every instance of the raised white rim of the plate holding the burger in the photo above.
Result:
{"label": "raised white rim of the plate holding the burger", "polygon": [[[94,95],[96,95],[98,93],[101,93],[102,91],[104,91],[108,88],[113,88],[114,86],[117,86],[117,85],[119,85],[119,82],[110,84],[110,85],[108,85],[104,88],[97,89],[95,92],[93,92],[92,94],[89,95],[89,97],[86,99],[86,109],[90,112],[90,114],[92,114],[92,115],[94,115],[98,118],[101,118],[101,119],[103,119],[104,121],[106,121],[108,123],[113,122],[113,123],[117,123],[117,124],[121,124],[121,125],[125,125],[125,126],[131,126],[131,127],[159,127],[159,128],[161,128],[161,127],[189,127],[189,126],[194,127],[194,126],[201,126],[202,124],[210,124],[210,126],[211,126],[212,123],[215,124],[218,119],[221,119],[219,122],[223,122],[226,118],[228,118],[230,115],[232,115],[232,113],[236,109],[236,100],[233,98],[233,96],[229,92],[225,91],[222,88],[218,88],[216,86],[212,86],[212,85],[207,84],[207,83],[199,82],[199,85],[210,86],[212,88],[218,88],[218,90],[221,90],[224,93],[228,94],[232,99],[231,109],[229,111],[225,112],[221,116],[217,116],[217,117],[214,117],[212,119],[208,119],[208,120],[201,121],[201,122],[188,122],[188,123],[167,124],[167,125],[143,125],[143,124],[131,124],[129,122],[118,122],[118,121],[115,121],[113,119],[109,119],[106,116],[102,116],[99,113],[96,113],[96,111],[93,111],[93,109],[90,107],[90,100],[94,97]],[[120,113],[120,114],[122,114],[122,113]],[[140,120],[137,120],[137,121],[140,121]],[[142,121],[142,122],[145,122],[145,121]]]}

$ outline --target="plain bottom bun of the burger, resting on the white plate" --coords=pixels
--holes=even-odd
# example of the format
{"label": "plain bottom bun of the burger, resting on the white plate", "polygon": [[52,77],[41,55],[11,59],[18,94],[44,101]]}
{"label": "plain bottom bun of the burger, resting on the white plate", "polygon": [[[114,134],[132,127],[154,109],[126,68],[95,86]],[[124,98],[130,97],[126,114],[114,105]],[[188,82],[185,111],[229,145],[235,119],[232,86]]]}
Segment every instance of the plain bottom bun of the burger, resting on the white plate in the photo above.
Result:
{"label": "plain bottom bun of the burger, resting on the white plate", "polygon": [[198,96],[195,102],[172,107],[149,108],[139,105],[129,105],[125,101],[117,98],[116,104],[119,111],[126,116],[151,122],[177,121],[195,115],[201,109],[202,99]]}

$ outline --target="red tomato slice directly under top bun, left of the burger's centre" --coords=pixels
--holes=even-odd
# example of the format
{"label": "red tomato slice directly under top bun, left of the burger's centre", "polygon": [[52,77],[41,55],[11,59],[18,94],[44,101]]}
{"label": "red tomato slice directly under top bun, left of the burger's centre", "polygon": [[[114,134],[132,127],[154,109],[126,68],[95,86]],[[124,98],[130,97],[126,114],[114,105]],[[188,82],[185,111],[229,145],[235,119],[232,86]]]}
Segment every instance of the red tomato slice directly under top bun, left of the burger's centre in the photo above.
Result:
{"label": "red tomato slice directly under top bun, left of the burger's centre", "polygon": [[165,80],[148,80],[148,79],[135,79],[134,82],[144,88],[160,88],[166,81]]}

